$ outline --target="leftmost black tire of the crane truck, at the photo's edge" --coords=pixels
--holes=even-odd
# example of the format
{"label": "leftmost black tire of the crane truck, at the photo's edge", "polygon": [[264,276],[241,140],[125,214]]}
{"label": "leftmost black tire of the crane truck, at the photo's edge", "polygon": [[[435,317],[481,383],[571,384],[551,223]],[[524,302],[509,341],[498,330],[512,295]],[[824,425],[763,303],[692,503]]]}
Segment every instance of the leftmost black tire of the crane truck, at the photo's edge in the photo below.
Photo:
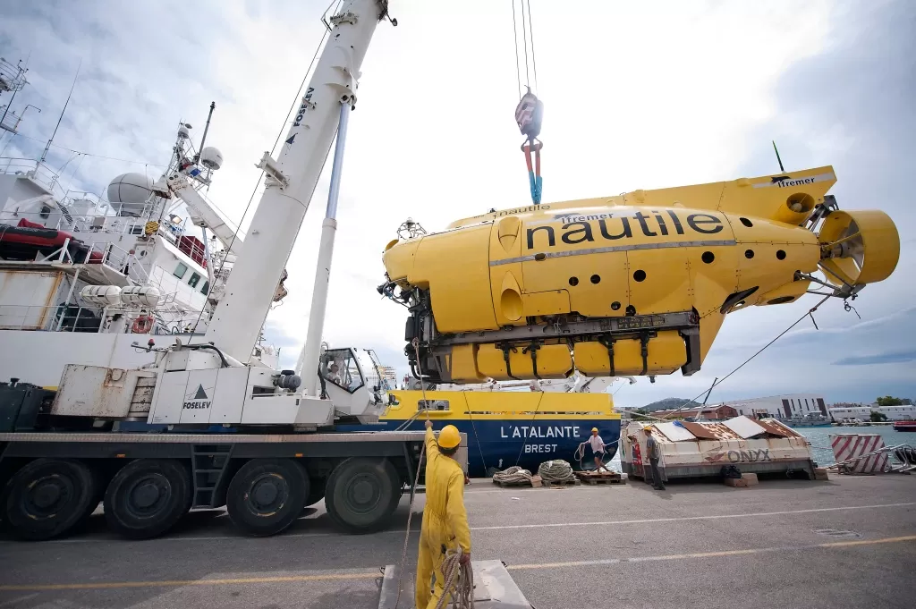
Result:
{"label": "leftmost black tire of the crane truck, at the photo's edge", "polygon": [[37,459],[6,483],[0,495],[3,524],[20,539],[60,537],[92,513],[95,497],[95,478],[85,463]]}

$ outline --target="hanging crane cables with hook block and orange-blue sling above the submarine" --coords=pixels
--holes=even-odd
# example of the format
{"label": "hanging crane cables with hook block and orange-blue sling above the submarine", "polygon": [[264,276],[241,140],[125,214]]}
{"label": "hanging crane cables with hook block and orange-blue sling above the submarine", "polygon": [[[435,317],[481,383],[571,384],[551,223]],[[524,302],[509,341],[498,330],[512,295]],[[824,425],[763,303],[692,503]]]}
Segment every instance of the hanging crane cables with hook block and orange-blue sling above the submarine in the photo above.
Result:
{"label": "hanging crane cables with hook block and orange-blue sling above the submarine", "polygon": [[[521,92],[521,70],[518,67],[519,61],[521,60],[521,56],[518,53],[518,16],[516,16],[515,0],[512,0],[512,34],[516,50],[516,82],[518,84],[518,93],[521,95],[521,99],[516,106],[516,124],[518,125],[518,130],[525,136],[525,141],[521,145],[521,150],[525,153],[525,163],[528,166],[531,202],[535,205],[540,205],[540,195],[543,189],[543,179],[541,179],[540,176],[540,149],[544,147],[544,145],[540,139],[538,139],[538,136],[540,136],[540,126],[544,116],[544,103],[531,91],[531,72],[534,73],[534,88],[538,88],[538,64],[534,55],[534,30],[531,27],[531,5],[529,4],[529,0],[520,0],[520,2],[522,48],[525,58],[525,88],[527,92],[524,94]],[[528,6],[527,20],[526,5]],[[531,40],[530,61],[528,57],[529,38]]]}

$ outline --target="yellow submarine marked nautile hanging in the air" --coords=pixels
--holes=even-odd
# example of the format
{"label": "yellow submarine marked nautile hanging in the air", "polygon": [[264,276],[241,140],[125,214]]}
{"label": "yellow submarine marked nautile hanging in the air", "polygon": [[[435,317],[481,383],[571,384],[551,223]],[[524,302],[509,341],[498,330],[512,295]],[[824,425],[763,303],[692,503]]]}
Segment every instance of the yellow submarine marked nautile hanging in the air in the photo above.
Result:
{"label": "yellow submarine marked nautile hanging in the air", "polygon": [[894,223],[841,211],[835,181],[822,167],[490,212],[390,242],[378,289],[408,307],[405,353],[433,383],[692,375],[725,315],[812,283],[855,298],[893,272]]}

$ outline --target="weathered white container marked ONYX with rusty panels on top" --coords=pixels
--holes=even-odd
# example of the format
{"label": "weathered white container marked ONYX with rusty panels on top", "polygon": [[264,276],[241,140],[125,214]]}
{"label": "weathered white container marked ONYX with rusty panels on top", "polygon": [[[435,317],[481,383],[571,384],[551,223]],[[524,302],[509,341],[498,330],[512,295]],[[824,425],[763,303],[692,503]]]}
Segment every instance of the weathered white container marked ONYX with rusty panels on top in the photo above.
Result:
{"label": "weathered white container marked ONYX with rusty panels on top", "polygon": [[644,478],[649,467],[646,434],[659,443],[664,476],[718,476],[723,465],[747,473],[805,472],[814,479],[811,444],[776,419],[736,417],[723,422],[631,422],[620,432],[620,461],[625,473]]}

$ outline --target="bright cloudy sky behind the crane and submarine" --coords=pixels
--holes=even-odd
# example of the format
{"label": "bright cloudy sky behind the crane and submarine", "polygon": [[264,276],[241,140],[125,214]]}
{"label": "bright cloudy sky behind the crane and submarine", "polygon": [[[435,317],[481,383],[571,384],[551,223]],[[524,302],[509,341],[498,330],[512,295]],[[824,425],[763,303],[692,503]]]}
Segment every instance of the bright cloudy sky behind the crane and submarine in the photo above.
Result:
{"label": "bright cloudy sky behind the crane and submarine", "polygon": [[[900,264],[854,303],[831,301],[716,388],[712,401],[819,392],[828,401],[916,397],[916,4],[531,0],[544,201],[833,165],[845,209],[879,208]],[[157,175],[179,121],[225,163],[209,195],[238,221],[254,165],[286,132],[289,105],[322,38],[326,5],[300,0],[0,0],[0,55],[27,60],[32,103],[4,157],[50,149],[74,190],[127,170]],[[404,310],[379,299],[380,253],[408,216],[427,229],[529,202],[512,5],[392,0],[368,51],[344,162],[325,337],[375,348],[403,369]],[[533,74],[530,75],[533,80]],[[522,81],[525,74],[522,73]],[[9,95],[0,97],[6,103]],[[87,154],[76,154],[80,151]],[[100,158],[108,157],[108,158]],[[113,160],[118,159],[118,160]],[[295,362],[311,301],[327,171],[289,261],[290,295],[267,334]],[[242,220],[245,225],[249,217]],[[817,297],[729,316],[703,371],[622,386],[616,401],[692,397],[801,317]],[[616,388],[616,387],[615,387]]]}

